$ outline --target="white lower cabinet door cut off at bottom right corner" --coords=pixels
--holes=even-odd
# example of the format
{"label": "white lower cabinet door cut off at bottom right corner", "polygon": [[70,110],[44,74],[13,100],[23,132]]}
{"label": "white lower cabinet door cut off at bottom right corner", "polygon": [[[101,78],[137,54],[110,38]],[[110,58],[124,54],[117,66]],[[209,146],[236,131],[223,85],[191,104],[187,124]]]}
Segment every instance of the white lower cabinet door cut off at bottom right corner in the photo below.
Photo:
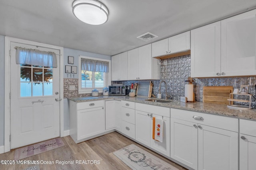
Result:
{"label": "white lower cabinet door cut off at bottom right corner", "polygon": [[255,158],[256,137],[240,134],[240,170],[254,170]]}

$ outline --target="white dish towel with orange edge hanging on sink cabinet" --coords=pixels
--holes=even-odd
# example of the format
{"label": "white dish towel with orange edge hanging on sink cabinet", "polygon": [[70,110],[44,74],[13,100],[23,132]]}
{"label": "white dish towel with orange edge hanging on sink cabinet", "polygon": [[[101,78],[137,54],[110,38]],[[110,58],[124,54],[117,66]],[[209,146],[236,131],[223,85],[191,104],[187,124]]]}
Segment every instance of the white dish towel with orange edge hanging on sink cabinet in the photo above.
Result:
{"label": "white dish towel with orange edge hanging on sink cabinet", "polygon": [[153,117],[153,139],[159,142],[163,142],[163,126],[164,120]]}

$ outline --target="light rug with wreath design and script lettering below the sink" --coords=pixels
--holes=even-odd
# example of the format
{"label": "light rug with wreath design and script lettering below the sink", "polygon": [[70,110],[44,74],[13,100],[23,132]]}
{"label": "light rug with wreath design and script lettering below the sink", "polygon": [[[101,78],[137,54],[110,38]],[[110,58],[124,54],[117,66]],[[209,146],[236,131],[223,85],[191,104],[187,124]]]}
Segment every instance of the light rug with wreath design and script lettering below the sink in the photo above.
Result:
{"label": "light rug with wreath design and script lettering below the sink", "polygon": [[164,162],[134,144],[117,150],[114,152],[114,155],[133,170],[178,170],[178,168]]}

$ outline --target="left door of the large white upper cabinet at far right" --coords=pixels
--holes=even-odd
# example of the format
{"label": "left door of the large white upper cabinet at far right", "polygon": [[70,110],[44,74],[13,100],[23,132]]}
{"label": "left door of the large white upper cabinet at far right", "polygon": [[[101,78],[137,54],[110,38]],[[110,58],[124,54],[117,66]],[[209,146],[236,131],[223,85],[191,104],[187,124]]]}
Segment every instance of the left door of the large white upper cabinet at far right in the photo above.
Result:
{"label": "left door of the large white upper cabinet at far right", "polygon": [[220,21],[191,30],[191,77],[220,76]]}

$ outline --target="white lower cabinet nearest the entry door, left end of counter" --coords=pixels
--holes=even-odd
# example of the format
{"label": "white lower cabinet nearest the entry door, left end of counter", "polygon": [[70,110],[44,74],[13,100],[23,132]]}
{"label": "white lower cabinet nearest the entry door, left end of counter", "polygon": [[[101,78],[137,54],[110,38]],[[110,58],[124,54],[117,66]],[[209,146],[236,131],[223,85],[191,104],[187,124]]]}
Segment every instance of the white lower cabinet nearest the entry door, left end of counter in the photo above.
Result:
{"label": "white lower cabinet nearest the entry door, left end of counter", "polygon": [[73,102],[70,100],[70,136],[82,142],[105,131],[104,101]]}

